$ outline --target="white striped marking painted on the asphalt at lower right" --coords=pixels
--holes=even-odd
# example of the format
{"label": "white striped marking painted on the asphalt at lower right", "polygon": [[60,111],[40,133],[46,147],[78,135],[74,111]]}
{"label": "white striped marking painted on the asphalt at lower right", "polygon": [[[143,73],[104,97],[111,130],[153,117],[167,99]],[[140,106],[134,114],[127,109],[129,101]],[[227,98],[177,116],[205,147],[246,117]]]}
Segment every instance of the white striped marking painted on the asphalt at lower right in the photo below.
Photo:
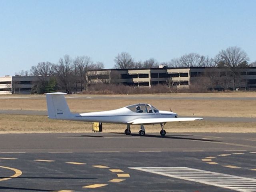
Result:
{"label": "white striped marking painted on the asphalt at lower right", "polygon": [[130,167],[130,169],[150,172],[192,182],[198,182],[240,192],[256,191],[255,178],[239,177],[188,167]]}

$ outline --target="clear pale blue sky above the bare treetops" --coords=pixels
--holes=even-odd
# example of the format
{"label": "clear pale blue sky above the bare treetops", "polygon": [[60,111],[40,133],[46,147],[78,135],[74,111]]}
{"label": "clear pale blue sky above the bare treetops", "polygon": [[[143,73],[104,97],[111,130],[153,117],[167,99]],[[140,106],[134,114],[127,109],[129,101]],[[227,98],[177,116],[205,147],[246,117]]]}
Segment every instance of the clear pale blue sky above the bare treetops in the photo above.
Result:
{"label": "clear pale blue sky above the bare treetops", "polygon": [[64,54],[114,66],[238,46],[256,60],[256,0],[0,0],[0,76]]}

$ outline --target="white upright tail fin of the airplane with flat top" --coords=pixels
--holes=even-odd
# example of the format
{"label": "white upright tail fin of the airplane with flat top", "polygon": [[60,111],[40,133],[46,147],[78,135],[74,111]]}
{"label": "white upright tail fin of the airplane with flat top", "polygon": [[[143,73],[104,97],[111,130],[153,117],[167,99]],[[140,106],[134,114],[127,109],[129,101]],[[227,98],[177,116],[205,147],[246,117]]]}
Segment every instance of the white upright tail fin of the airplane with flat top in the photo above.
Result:
{"label": "white upright tail fin of the airplane with flat top", "polygon": [[66,93],[46,93],[48,117],[51,119],[69,119],[72,113],[64,97]]}

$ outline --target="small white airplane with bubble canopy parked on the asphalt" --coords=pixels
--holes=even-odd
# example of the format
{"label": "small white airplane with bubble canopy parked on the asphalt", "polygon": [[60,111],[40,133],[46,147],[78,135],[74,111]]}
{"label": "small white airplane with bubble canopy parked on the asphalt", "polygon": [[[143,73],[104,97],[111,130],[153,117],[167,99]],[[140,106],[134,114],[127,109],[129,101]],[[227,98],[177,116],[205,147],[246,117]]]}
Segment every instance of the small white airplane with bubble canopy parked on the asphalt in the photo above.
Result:
{"label": "small white airplane with bubble canopy parked on the asphalt", "polygon": [[71,113],[64,97],[66,93],[46,93],[48,118],[85,122],[102,122],[126,124],[126,135],[131,134],[130,125],[140,125],[140,136],[145,135],[145,124],[160,124],[160,134],[165,136],[164,124],[175,121],[194,121],[202,118],[178,118],[177,114],[170,111],[160,111],[150,104],[134,104],[116,110]]}

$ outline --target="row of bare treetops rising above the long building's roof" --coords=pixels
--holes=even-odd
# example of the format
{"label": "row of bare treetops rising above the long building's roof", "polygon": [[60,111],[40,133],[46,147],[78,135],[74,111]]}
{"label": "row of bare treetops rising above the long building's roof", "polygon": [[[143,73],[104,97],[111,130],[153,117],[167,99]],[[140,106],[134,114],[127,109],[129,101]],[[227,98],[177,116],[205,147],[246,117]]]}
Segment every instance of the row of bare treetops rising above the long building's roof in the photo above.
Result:
{"label": "row of bare treetops rising above the long building's roof", "polygon": [[127,52],[118,54],[115,59],[115,68],[153,68],[159,65],[168,67],[247,67],[256,66],[256,61],[248,63],[249,58],[244,50],[239,47],[229,47],[221,50],[214,58],[200,55],[197,53],[184,54],[180,58],[174,58],[168,62],[157,62],[154,58],[150,58],[144,62],[136,62]]}

